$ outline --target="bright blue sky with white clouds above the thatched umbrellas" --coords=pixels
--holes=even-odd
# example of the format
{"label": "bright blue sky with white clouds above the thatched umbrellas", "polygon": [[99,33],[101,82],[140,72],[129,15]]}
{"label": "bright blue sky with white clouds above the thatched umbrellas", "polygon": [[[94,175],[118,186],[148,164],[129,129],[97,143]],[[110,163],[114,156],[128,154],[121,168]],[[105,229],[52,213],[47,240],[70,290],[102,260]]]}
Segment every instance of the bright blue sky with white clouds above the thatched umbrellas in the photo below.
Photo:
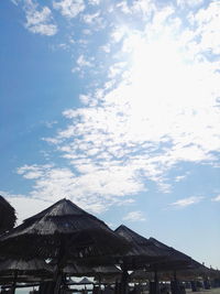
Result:
{"label": "bright blue sky with white clouds above the thatched umbrellas", "polygon": [[0,195],[62,198],[220,269],[220,1],[1,0]]}

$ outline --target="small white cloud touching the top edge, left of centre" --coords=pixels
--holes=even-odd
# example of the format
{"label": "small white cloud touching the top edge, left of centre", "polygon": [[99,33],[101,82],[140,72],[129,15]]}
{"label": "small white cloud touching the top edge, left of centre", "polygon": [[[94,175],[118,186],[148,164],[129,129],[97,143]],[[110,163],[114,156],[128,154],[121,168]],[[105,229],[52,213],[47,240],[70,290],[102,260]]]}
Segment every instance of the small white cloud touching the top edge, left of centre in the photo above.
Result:
{"label": "small white cloud touching the top edge, left of centre", "polygon": [[84,0],[54,1],[53,7],[54,9],[59,10],[64,17],[70,19],[76,18],[86,8]]}

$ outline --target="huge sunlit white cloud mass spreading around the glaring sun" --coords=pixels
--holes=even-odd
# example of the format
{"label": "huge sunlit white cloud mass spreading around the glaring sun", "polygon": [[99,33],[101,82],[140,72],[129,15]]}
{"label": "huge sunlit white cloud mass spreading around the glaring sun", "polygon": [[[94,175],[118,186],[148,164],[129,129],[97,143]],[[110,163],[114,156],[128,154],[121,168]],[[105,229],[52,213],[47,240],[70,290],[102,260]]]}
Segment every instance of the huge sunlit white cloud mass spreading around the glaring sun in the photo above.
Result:
{"label": "huge sunlit white cloud mass spreading around the glaring sun", "polygon": [[[100,10],[96,7],[100,1],[94,0],[88,2],[92,13],[82,0],[53,2],[68,24],[80,14],[82,37],[69,36],[68,43],[68,48],[80,47],[74,55],[73,72],[84,77],[99,68],[97,56],[101,54],[105,81],[97,86],[101,78],[92,76],[95,86],[78,96],[82,106],[66,109],[66,124],[43,139],[54,145],[62,163],[18,168],[34,183],[30,196],[69,197],[101,213],[133,202],[134,195],[148,189],[150,182],[160,192],[170,193],[188,175],[168,176],[180,163],[217,166],[220,73],[219,62],[208,53],[220,52],[219,3],[199,9],[200,2],[191,1],[195,10],[186,15],[188,23],[176,13],[179,8],[157,8],[155,1],[121,1]],[[38,10],[42,14],[35,11],[36,7],[30,28],[53,20],[48,8]],[[106,11],[124,14],[113,22]],[[132,26],[131,15],[144,19],[141,29]],[[103,29],[102,20],[109,31],[105,31],[105,43],[101,39],[97,43],[95,57],[88,43],[99,25]],[[172,205],[185,207],[199,200],[189,197]]]}

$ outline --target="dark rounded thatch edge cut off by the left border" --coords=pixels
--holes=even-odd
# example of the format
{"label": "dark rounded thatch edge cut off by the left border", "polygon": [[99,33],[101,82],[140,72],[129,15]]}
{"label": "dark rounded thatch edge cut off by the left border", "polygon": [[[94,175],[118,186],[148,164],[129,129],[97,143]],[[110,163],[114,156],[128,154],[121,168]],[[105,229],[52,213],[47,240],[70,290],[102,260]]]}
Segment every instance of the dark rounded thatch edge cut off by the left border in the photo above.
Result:
{"label": "dark rounded thatch edge cut off by the left border", "polygon": [[16,215],[14,208],[0,196],[0,235],[14,227]]}

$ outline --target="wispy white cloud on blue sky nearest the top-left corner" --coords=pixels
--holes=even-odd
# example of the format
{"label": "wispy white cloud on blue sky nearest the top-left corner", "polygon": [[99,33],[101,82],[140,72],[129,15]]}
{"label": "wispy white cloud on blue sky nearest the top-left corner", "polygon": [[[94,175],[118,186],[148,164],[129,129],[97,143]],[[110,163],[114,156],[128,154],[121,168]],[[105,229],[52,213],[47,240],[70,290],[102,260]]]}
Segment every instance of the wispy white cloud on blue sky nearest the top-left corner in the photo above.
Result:
{"label": "wispy white cloud on blue sky nearest the top-left corner", "polygon": [[57,33],[57,26],[53,22],[52,11],[48,7],[38,9],[32,1],[26,1],[25,13],[25,28],[30,32],[42,35],[54,35]]}

